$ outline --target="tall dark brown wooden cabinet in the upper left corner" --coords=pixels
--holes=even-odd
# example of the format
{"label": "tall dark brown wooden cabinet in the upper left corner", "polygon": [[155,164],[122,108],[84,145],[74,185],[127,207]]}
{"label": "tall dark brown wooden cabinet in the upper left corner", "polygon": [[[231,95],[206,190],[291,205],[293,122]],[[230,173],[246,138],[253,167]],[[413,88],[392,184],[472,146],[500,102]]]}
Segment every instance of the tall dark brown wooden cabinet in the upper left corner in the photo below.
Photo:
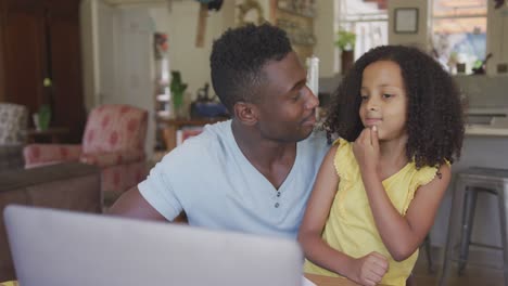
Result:
{"label": "tall dark brown wooden cabinet in the upper left corner", "polygon": [[79,0],[0,0],[0,101],[30,114],[50,104],[68,142],[80,141],[86,120],[79,35]]}

